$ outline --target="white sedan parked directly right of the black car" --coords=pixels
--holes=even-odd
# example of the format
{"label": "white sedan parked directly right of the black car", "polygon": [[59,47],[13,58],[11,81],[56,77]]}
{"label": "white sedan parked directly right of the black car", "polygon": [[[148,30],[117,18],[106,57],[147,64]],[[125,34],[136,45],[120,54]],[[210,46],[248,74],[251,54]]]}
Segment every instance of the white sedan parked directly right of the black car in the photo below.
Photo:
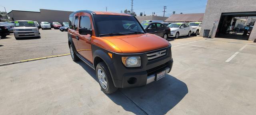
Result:
{"label": "white sedan parked directly right of the black car", "polygon": [[168,26],[171,29],[171,36],[178,38],[179,36],[190,36],[192,27],[187,23],[172,23]]}

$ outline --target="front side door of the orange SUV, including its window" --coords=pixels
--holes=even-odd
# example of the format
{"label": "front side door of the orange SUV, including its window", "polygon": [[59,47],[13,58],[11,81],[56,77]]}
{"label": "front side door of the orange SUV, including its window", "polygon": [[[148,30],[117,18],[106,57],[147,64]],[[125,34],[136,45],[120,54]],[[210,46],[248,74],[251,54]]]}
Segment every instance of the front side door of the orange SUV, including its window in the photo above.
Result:
{"label": "front side door of the orange SUV, including its window", "polygon": [[[81,12],[79,13],[79,28],[86,28],[88,30],[92,30],[92,22],[91,22],[91,16],[90,14]],[[80,35],[78,34],[78,53],[82,55],[84,58],[86,58],[88,61],[93,63],[93,57],[92,57],[92,45],[91,45],[91,36],[88,35]]]}

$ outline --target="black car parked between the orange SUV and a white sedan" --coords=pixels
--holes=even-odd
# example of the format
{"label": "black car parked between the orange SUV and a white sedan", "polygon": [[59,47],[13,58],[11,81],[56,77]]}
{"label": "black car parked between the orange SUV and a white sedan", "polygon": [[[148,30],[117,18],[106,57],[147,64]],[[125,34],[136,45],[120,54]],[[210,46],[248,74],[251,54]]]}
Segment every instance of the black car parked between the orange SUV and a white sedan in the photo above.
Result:
{"label": "black car parked between the orange SUV and a white sedan", "polygon": [[171,30],[168,26],[165,26],[162,23],[152,22],[152,23],[143,23],[141,24],[144,30],[150,34],[156,34],[164,39],[167,39],[171,34]]}

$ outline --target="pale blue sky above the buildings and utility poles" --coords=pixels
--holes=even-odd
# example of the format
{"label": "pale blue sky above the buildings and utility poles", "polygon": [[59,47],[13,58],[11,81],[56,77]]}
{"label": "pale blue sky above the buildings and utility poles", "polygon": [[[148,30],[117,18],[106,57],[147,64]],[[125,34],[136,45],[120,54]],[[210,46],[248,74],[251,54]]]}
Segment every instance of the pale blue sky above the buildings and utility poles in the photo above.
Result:
{"label": "pale blue sky above the buildings and utility poles", "polygon": [[[156,12],[157,16],[163,16],[163,6],[167,6],[166,15],[170,16],[172,11],[176,11],[176,14],[204,13],[206,3],[207,0],[134,0],[133,9],[137,15],[145,12],[148,16]],[[39,9],[106,11],[106,6],[109,12],[120,12],[131,9],[131,0],[13,0],[13,2],[2,0],[0,11],[4,11],[1,6],[5,6],[7,12],[11,10],[39,12]]]}

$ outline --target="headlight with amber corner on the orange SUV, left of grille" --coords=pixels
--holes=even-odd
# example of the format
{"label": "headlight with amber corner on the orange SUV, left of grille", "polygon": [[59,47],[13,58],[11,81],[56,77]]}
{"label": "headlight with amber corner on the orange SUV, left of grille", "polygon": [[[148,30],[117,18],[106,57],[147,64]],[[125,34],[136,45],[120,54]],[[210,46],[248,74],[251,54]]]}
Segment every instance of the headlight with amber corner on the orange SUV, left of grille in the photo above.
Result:
{"label": "headlight with amber corner on the orange SUV, left of grille", "polygon": [[122,57],[122,62],[126,67],[140,67],[140,56]]}

